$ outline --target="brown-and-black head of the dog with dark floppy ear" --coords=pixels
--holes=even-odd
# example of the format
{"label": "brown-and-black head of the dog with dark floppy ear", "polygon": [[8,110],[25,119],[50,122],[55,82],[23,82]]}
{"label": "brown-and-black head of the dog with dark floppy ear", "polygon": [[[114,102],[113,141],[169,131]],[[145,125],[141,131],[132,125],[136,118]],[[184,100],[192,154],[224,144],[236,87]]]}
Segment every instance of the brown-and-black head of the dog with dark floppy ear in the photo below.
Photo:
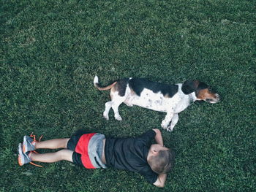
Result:
{"label": "brown-and-black head of the dog with dark floppy ear", "polygon": [[195,92],[197,100],[203,100],[212,104],[216,104],[220,101],[219,94],[211,91],[208,85],[199,80],[187,80],[182,84],[181,91],[184,94],[190,94]]}

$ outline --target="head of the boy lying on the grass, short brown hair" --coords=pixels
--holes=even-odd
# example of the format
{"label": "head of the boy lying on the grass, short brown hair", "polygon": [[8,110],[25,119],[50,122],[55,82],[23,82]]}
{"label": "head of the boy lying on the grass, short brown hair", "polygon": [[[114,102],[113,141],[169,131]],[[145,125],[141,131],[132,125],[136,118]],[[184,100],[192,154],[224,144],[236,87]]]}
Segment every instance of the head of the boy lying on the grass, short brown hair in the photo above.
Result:
{"label": "head of the boy lying on the grass, short brown hair", "polygon": [[148,164],[151,169],[160,174],[167,173],[173,168],[175,154],[173,150],[159,144],[151,145],[148,151]]}

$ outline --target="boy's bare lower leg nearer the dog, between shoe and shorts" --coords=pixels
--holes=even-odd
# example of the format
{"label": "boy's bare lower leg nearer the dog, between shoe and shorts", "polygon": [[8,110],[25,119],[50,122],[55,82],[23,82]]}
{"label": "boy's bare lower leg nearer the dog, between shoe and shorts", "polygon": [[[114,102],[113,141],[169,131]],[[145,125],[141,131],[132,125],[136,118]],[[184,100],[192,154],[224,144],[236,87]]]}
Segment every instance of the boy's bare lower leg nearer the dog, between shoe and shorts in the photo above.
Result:
{"label": "boy's bare lower leg nearer the dog, between shoe and shorts", "polygon": [[70,138],[50,139],[43,142],[36,142],[34,147],[36,147],[36,149],[67,149],[67,142],[69,141],[69,139]]}

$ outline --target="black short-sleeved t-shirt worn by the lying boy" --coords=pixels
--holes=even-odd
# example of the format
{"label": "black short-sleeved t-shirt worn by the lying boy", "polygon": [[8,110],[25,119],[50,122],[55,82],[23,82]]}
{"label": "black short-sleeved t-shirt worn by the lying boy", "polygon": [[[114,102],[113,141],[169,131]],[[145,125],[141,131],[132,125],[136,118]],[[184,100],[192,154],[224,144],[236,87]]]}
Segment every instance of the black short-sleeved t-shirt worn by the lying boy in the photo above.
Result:
{"label": "black short-sleeved t-shirt worn by the lying boy", "polygon": [[155,135],[156,132],[150,130],[136,138],[107,138],[105,142],[107,166],[139,172],[149,183],[155,183],[158,174],[152,171],[147,161],[148,149]]}

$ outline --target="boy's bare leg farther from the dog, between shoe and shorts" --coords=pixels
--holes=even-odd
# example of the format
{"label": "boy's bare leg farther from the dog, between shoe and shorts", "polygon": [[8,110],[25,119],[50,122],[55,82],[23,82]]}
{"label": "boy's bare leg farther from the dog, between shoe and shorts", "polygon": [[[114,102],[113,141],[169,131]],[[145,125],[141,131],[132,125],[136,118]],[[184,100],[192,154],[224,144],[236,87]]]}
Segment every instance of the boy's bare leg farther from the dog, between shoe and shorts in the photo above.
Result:
{"label": "boy's bare leg farther from the dog, between shoe and shorts", "polygon": [[72,150],[59,150],[55,153],[30,153],[31,161],[39,161],[39,162],[45,162],[45,163],[53,163],[56,161],[72,161]]}

